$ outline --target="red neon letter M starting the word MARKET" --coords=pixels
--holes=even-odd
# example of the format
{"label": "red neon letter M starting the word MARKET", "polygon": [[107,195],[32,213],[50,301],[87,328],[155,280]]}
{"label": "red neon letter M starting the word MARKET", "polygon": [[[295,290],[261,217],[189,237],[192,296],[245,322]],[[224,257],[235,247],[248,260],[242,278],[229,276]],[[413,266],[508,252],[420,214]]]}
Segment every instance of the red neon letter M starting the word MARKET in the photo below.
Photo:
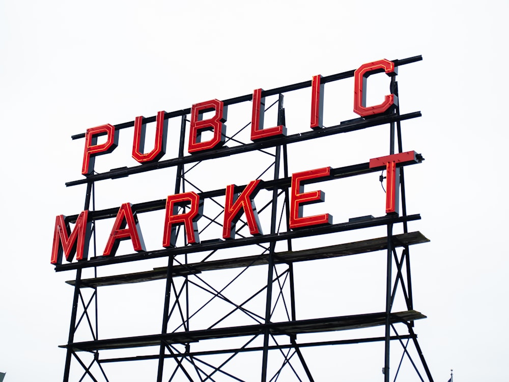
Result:
{"label": "red neon letter M starting the word MARKET", "polygon": [[88,210],[79,214],[72,233],[69,223],[65,222],[65,216],[56,216],[51,264],[62,264],[62,253],[67,261],[72,261],[74,254],[76,254],[76,260],[87,259],[92,226],[92,223],[88,222],[88,216]]}

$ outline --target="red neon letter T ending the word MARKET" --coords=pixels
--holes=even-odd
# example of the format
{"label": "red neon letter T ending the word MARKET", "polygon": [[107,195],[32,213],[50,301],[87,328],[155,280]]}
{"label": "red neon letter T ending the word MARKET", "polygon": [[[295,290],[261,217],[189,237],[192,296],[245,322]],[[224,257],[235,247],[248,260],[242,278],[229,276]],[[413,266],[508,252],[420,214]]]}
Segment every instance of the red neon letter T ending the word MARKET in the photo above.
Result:
{"label": "red neon letter T ending the word MARKET", "polygon": [[385,213],[399,213],[400,203],[400,169],[396,163],[416,163],[415,151],[382,156],[370,159],[370,169],[380,168],[387,171],[387,190],[385,196]]}

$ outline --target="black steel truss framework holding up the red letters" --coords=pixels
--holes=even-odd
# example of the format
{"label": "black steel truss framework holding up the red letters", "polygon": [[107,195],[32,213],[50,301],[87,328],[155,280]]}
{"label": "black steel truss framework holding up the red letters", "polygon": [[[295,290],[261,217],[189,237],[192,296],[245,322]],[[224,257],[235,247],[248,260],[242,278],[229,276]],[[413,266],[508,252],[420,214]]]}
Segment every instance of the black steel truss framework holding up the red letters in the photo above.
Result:
{"label": "black steel truss framework holding up the red letters", "polygon": [[[399,65],[419,61],[421,58],[400,60]],[[328,80],[347,78],[353,71],[340,73]],[[279,88],[265,92],[266,95],[278,94],[278,100],[269,106],[278,107],[277,123],[285,124],[285,109],[283,107],[283,93],[300,89],[310,84],[300,83],[290,87]],[[391,80],[391,90],[398,95],[395,77]],[[224,101],[225,104],[249,100],[247,96]],[[246,99],[244,99],[246,98]],[[268,109],[267,108],[267,109]],[[175,112],[177,113],[177,112]],[[174,113],[174,114],[175,114]],[[260,216],[269,215],[270,233],[261,236],[246,234],[247,223],[242,219],[237,223],[238,237],[231,241],[210,241],[198,245],[176,247],[152,251],[150,257],[167,257],[167,266],[154,268],[134,274],[114,275],[106,277],[97,276],[97,266],[139,260],[139,254],[122,255],[103,258],[96,255],[95,230],[93,228],[94,257],[86,262],[75,262],[56,266],[57,271],[76,269],[75,280],[68,281],[74,286],[74,297],[69,328],[69,338],[66,345],[66,363],[64,382],[71,380],[71,364],[78,365],[81,373],[76,380],[114,381],[114,376],[108,374],[107,365],[118,362],[154,361],[157,364],[156,381],[244,381],[259,380],[262,382],[278,380],[314,381],[313,368],[306,362],[304,349],[327,345],[346,345],[355,343],[383,342],[384,343],[384,381],[388,382],[390,366],[391,342],[401,346],[402,357],[398,368],[393,372],[393,380],[397,380],[400,366],[407,359],[419,380],[433,381],[431,372],[423,356],[417,335],[414,333],[414,321],[425,318],[424,315],[413,309],[412,283],[410,272],[410,245],[429,241],[420,232],[409,232],[407,223],[420,219],[419,215],[407,215],[404,168],[400,170],[401,205],[400,215],[389,214],[381,217],[368,217],[347,223],[334,224],[326,227],[307,228],[291,231],[288,226],[289,215],[289,187],[290,174],[288,169],[288,144],[306,139],[317,138],[328,134],[353,131],[371,126],[388,124],[390,126],[389,150],[390,154],[403,152],[401,121],[420,116],[420,113],[411,113],[401,116],[396,107],[392,114],[378,116],[371,119],[358,119],[347,121],[338,126],[328,127],[319,131],[290,135],[284,140],[272,139],[262,143],[242,144],[237,141],[236,134],[227,137],[227,141],[240,143],[240,146],[225,148],[215,153],[184,156],[184,137],[186,131],[186,115],[181,114],[181,141],[179,158],[158,163],[158,167],[177,167],[175,193],[194,190],[201,198],[209,200],[220,208],[224,206],[216,200],[224,195],[224,189],[213,191],[202,190],[197,181],[192,179],[192,170],[199,166],[201,160],[222,157],[236,152],[256,150],[272,158],[270,166],[260,170],[262,176],[272,173],[271,180],[262,183],[262,188],[270,192],[266,203],[259,209]],[[172,113],[168,114],[174,117]],[[147,119],[148,121],[150,119]],[[129,127],[130,123],[117,126]],[[249,124],[243,128],[247,128]],[[314,137],[311,135],[315,134]],[[80,138],[77,135],[74,138]],[[418,157],[419,161],[422,157]],[[95,210],[94,184],[96,181],[127,176],[138,172],[148,171],[148,165],[131,169],[111,170],[105,174],[89,176],[84,209],[90,210],[90,216],[95,222],[115,216],[118,208]],[[331,178],[342,178],[363,173],[373,172],[368,163],[332,169]],[[80,184],[83,181],[69,182],[68,185]],[[239,190],[243,187],[238,187]],[[92,205],[91,205],[92,204]],[[92,207],[92,208],[91,208]],[[164,201],[153,201],[133,205],[139,212],[153,211],[164,208]],[[182,207],[185,208],[185,207]],[[221,226],[221,214],[204,215],[202,219],[208,224],[202,231],[211,226]],[[67,219],[73,221],[75,216]],[[403,233],[393,234],[393,227],[402,225]],[[293,250],[293,240],[326,233],[349,231],[374,226],[386,226],[387,235],[368,240],[336,244],[328,247]],[[185,232],[179,230],[177,236],[185,237]],[[286,243],[285,251],[276,251],[276,243]],[[225,248],[242,246],[238,252],[243,256],[215,258],[218,251]],[[246,247],[243,247],[246,246]],[[248,246],[248,247],[247,247]],[[245,249],[257,251],[254,254],[245,253]],[[298,319],[296,314],[296,280],[294,264],[302,261],[320,260],[332,257],[341,257],[375,251],[386,252],[386,301],[385,311],[349,316],[320,317],[313,319]],[[189,261],[188,255],[200,253],[200,261]],[[82,278],[82,269],[94,267],[94,277]],[[246,277],[252,269],[265,269],[265,282],[244,293],[239,299],[237,295],[230,294],[232,289],[238,291],[239,280]],[[221,286],[212,282],[207,275],[214,272],[229,270],[229,279],[223,280]],[[235,271],[235,272],[234,272]],[[157,334],[144,336],[131,336],[123,338],[100,338],[98,328],[98,288],[111,285],[138,283],[154,280],[165,280],[164,306],[162,312],[161,331]],[[245,285],[245,284],[244,284]],[[200,291],[208,297],[200,304],[193,303],[193,292]],[[393,304],[397,293],[403,295],[406,311],[393,312]],[[241,293],[242,294],[242,293]],[[258,302],[253,304],[253,302]],[[261,302],[261,303],[260,303]],[[221,314],[210,316],[207,324],[204,322],[204,312],[210,312],[213,304],[220,303]],[[254,308],[253,308],[254,307]],[[260,308],[263,307],[263,308]],[[196,326],[195,320],[200,317],[200,324]],[[205,314],[207,317],[207,314]],[[233,319],[235,318],[235,319]],[[233,324],[230,322],[234,322]],[[89,341],[76,342],[74,335],[83,327],[90,332]],[[385,335],[378,337],[337,338],[332,340],[301,340],[302,336],[319,333],[334,333],[347,330],[362,330],[383,326]],[[357,333],[357,331],[355,331]],[[308,338],[308,337],[306,337]],[[201,344],[210,344],[201,346]],[[130,356],[105,357],[104,352],[117,349],[150,348],[151,354],[137,354]],[[394,350],[393,350],[394,351]],[[246,367],[242,354],[260,354],[257,370],[246,376],[243,368]],[[107,353],[109,354],[109,353]],[[416,354],[416,355],[415,355]],[[154,364],[151,364],[154,365]],[[233,366],[232,366],[233,365]],[[74,380],[74,379],[72,379]]]}

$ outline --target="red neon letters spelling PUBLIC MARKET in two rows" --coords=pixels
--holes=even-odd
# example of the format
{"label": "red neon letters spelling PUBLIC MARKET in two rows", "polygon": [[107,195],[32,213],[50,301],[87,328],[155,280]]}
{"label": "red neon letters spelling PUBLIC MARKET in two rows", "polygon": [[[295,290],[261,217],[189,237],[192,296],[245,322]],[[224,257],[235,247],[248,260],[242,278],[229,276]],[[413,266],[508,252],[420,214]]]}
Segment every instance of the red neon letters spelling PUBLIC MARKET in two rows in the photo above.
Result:
{"label": "red neon letters spelling PUBLIC MARKET in two rows", "polygon": [[[359,126],[369,125],[370,120],[377,117],[391,115],[394,108],[398,106],[398,97],[395,94],[385,95],[384,101],[377,105],[366,105],[367,77],[371,74],[385,72],[389,76],[397,75],[397,66],[394,62],[388,60],[379,60],[361,65],[354,72],[354,92],[353,92],[353,111],[362,117]],[[324,104],[324,78],[321,75],[313,76],[311,81],[310,94],[310,131],[315,134],[335,133],[333,128],[323,127],[323,104]],[[287,135],[291,131],[291,126],[278,124],[273,127],[264,126],[265,96],[262,89],[256,89],[252,93],[252,112],[250,123],[250,140],[253,147],[271,147],[288,142],[295,142],[301,137],[292,138]],[[204,118],[204,115],[212,117]],[[155,117],[155,140],[150,151],[144,150],[146,147],[145,134],[147,119],[138,116],[134,119],[134,138],[132,142],[132,158],[134,158],[142,169],[146,167],[149,170],[157,169],[161,158],[166,153],[168,115],[164,111],[158,112]],[[190,121],[188,131],[187,152],[190,155],[183,156],[178,153],[175,156],[176,161],[183,162],[189,157],[200,157],[204,153],[214,153],[214,155],[230,155],[227,150],[232,148],[223,147],[225,143],[226,126],[228,115],[228,105],[225,102],[212,99],[205,102],[193,104],[190,108]],[[362,122],[365,121],[365,122]],[[337,130],[337,126],[335,126]],[[327,131],[330,129],[330,131]],[[300,134],[299,134],[300,135]],[[302,134],[304,135],[304,134]],[[102,138],[102,143],[98,143],[98,138]],[[81,174],[86,177],[80,183],[94,181],[94,161],[99,155],[111,153],[118,147],[119,128],[111,124],[104,124],[87,129],[84,134],[84,150]],[[245,145],[249,146],[251,144]],[[150,144],[149,144],[150,146]],[[241,148],[235,148],[237,152]],[[247,147],[246,147],[247,149]],[[146,152],[145,152],[146,151]],[[399,168],[404,165],[418,163],[421,160],[419,154],[414,151],[400,152],[384,157],[366,158],[369,159],[369,169],[386,170],[387,190],[385,211],[388,214],[398,214],[399,201]],[[192,159],[191,159],[192,160]],[[201,160],[201,159],[200,159]],[[166,161],[168,162],[168,161]],[[169,163],[169,162],[168,162]],[[171,164],[171,163],[170,163]],[[138,170],[136,170],[138,172]],[[332,225],[332,216],[329,213],[317,215],[305,215],[303,206],[313,203],[324,202],[324,193],[315,189],[304,192],[304,184],[327,181],[331,179],[334,169],[322,167],[317,169],[303,169],[293,173],[289,185],[289,216],[288,227],[290,230],[299,230],[309,227],[323,227]],[[113,177],[112,177],[113,178]],[[77,184],[77,183],[76,183]],[[223,242],[239,240],[235,237],[236,224],[244,217],[252,236],[263,235],[260,220],[258,218],[256,196],[264,186],[261,179],[251,180],[242,189],[235,184],[225,185],[224,189],[224,213],[222,222]],[[318,188],[318,187],[316,187]],[[163,232],[161,246],[165,249],[177,247],[177,228],[182,226],[185,231],[186,248],[200,246],[199,229],[197,222],[203,215],[203,198],[195,192],[183,192],[166,196],[164,221],[160,222]],[[116,255],[119,243],[122,240],[130,240],[135,252],[146,254],[147,248],[143,240],[142,227],[140,227],[136,215],[136,210],[128,201],[123,201],[118,208],[115,222],[111,226],[111,231],[107,243],[102,251],[104,258],[114,257]],[[70,220],[64,215],[56,216],[54,226],[53,245],[51,252],[51,264],[57,266],[62,264],[65,258],[67,262],[86,262],[88,260],[89,240],[92,233],[91,211],[83,210],[77,215],[74,221],[74,227],[71,229]],[[231,246],[231,245],[230,245]],[[150,255],[150,254],[149,254]]]}

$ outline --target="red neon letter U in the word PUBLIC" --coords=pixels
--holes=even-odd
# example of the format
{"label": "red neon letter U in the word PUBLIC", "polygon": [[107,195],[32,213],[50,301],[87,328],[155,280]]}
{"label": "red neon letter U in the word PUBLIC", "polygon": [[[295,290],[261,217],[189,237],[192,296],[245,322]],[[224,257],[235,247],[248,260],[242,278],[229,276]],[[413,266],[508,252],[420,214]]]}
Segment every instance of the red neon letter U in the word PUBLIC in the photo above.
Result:
{"label": "red neon letter U in the word PUBLIC", "polygon": [[139,163],[153,162],[161,159],[166,152],[166,134],[168,131],[168,120],[164,119],[164,111],[157,112],[156,117],[156,139],[154,149],[146,154],[142,153],[145,147],[145,132],[147,125],[143,123],[143,117],[136,117],[134,120],[134,140],[132,142],[132,157]]}

